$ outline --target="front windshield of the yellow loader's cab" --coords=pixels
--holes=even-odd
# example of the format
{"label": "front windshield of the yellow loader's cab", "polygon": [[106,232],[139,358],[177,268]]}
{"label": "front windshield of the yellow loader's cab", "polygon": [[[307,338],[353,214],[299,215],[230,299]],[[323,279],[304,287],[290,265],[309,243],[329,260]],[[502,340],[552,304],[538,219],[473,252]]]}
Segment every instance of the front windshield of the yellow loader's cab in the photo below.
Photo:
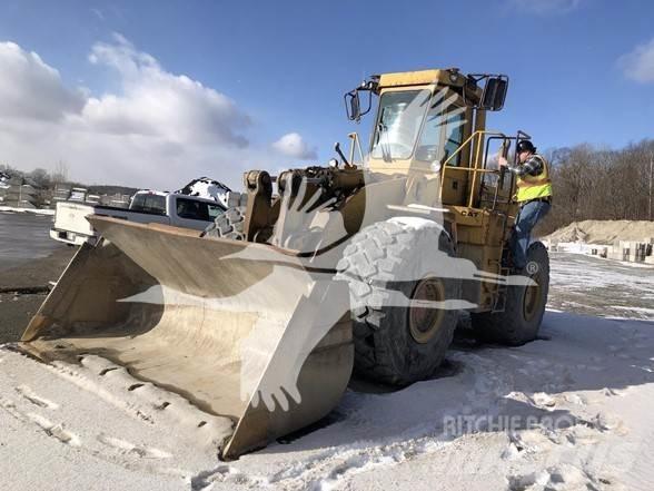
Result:
{"label": "front windshield of the yellow loader's cab", "polygon": [[429,94],[428,90],[407,90],[382,96],[370,150],[373,158],[390,161],[412,156],[429,107]]}

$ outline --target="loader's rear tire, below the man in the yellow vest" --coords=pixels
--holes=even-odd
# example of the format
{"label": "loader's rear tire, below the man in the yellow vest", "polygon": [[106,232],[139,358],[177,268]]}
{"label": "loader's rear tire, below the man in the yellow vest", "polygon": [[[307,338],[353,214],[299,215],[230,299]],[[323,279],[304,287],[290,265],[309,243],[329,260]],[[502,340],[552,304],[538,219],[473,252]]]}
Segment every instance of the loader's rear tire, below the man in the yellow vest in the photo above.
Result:
{"label": "loader's rear tire, below the man in the yellow vest", "polygon": [[529,246],[527,267],[516,273],[529,276],[536,286],[508,286],[504,312],[470,314],[477,338],[519,346],[538,336],[549,291],[549,256],[542,243]]}

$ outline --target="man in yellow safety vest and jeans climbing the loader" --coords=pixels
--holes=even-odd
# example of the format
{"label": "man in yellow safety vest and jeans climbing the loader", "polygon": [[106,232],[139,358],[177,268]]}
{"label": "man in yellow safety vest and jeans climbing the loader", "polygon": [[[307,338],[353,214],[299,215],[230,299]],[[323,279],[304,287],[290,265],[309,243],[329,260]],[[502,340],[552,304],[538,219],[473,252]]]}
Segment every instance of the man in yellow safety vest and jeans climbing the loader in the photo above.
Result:
{"label": "man in yellow safety vest and jeans climbing the loader", "polygon": [[511,238],[513,265],[524,269],[527,265],[527,248],[532,229],[552,207],[552,180],[549,165],[536,154],[536,147],[529,140],[521,140],[516,147],[518,164],[508,165],[503,156],[497,161],[517,177],[517,202],[521,209],[515,220],[515,230]]}

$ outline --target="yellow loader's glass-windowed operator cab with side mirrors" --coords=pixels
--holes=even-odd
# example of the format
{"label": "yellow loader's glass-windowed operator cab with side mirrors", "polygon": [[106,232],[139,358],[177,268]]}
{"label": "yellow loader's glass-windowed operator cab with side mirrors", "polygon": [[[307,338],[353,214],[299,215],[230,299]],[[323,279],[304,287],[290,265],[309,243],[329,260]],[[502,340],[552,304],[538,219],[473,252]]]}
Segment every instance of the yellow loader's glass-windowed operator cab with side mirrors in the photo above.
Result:
{"label": "yellow loader's glass-windowed operator cab with side mirrors", "polygon": [[[406,175],[410,183],[427,179],[422,196],[407,200],[425,205],[465,205],[478,194],[470,176],[470,160],[483,151],[486,110],[504,105],[504,76],[464,76],[457,69],[384,73],[346,95],[348,117],[360,119],[378,96],[370,131],[368,168],[374,173]],[[494,77],[494,78],[492,78]],[[444,173],[444,167],[447,171]],[[416,187],[417,189],[417,187]]]}

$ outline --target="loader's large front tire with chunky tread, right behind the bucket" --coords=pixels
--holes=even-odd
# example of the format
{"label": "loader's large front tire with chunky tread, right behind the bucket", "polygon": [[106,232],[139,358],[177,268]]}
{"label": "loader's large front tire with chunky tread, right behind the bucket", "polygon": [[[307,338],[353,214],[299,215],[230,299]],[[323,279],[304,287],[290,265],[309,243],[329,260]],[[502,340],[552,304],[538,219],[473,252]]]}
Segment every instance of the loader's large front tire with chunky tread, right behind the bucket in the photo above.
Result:
{"label": "loader's large front tire with chunky tread, right behind the bucket", "polygon": [[[449,261],[448,256],[454,257],[452,242],[436,226],[414,228],[382,222],[353,237],[338,263],[336,277],[349,283],[355,373],[393,385],[408,385],[433,376],[452,343],[458,311],[389,304],[390,296],[396,297],[393,292],[402,292],[407,298],[414,298],[418,292],[439,292],[427,298],[458,299],[459,279],[429,275],[434,264]],[[426,313],[423,318],[422,312]]]}

